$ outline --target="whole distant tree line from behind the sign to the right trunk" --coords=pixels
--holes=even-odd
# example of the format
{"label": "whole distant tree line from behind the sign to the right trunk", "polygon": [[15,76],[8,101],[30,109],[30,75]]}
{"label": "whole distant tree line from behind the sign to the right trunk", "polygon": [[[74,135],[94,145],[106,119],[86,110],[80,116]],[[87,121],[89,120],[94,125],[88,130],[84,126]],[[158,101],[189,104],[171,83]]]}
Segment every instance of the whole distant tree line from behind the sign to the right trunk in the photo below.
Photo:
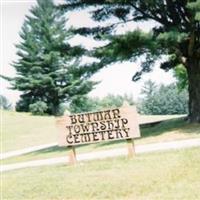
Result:
{"label": "whole distant tree line from behind the sign to the right trunk", "polygon": [[135,102],[131,95],[112,95],[103,98],[81,96],[74,98],[67,108],[72,113],[103,110],[121,107],[124,101],[136,105],[141,114],[146,115],[173,115],[188,113],[188,92],[179,90],[176,84],[156,85],[152,81],[145,82],[141,97]]}

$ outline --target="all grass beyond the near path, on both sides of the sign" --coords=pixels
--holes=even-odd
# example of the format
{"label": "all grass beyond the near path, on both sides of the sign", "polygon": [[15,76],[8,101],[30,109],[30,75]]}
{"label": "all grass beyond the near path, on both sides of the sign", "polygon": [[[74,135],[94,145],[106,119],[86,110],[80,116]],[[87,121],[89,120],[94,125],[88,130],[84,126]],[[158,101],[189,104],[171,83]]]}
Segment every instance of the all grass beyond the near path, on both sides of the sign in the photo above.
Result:
{"label": "all grass beyond the near path, on both sides of the sign", "polygon": [[[20,119],[19,119],[20,117]],[[5,120],[7,118],[7,121]],[[56,142],[55,119],[53,117],[34,117],[27,114],[5,112],[3,130],[3,150],[33,146],[36,143]],[[26,123],[18,124],[18,121]],[[13,126],[8,126],[13,122]],[[15,128],[16,127],[16,128]],[[16,129],[16,130],[15,130]],[[36,131],[38,129],[38,131]],[[13,137],[12,137],[13,135]],[[200,125],[188,124],[183,119],[173,119],[153,127],[141,128],[141,138],[136,139],[136,145],[181,140],[200,137]],[[102,142],[77,147],[77,153],[99,151],[110,148],[125,147],[125,141]],[[2,164],[23,162],[36,159],[52,158],[67,155],[67,147],[51,147],[33,153],[3,160]]]}

